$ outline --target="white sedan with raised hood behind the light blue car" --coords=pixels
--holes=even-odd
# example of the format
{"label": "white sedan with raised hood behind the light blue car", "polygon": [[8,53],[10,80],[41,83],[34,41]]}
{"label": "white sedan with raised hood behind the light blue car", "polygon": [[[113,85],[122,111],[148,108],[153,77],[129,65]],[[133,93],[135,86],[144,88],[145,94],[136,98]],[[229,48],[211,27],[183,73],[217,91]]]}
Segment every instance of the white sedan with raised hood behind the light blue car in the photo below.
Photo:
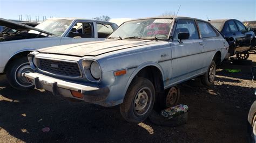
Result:
{"label": "white sedan with raised hood behind the light blue car", "polygon": [[114,23],[75,18],[51,18],[36,27],[0,18],[0,25],[11,28],[0,33],[0,74],[6,73],[11,86],[23,90],[33,88],[21,76],[32,71],[27,57],[30,52],[44,47],[104,40],[118,27]]}

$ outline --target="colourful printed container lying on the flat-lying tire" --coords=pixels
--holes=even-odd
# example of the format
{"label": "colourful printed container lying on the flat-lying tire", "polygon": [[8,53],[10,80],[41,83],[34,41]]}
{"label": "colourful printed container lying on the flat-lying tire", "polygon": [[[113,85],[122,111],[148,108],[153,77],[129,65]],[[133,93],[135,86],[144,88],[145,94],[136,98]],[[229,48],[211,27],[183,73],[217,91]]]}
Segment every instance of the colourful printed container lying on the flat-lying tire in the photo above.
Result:
{"label": "colourful printed container lying on the flat-lying tire", "polygon": [[188,106],[187,105],[179,104],[179,105],[173,106],[171,108],[167,108],[165,110],[162,110],[161,115],[168,118],[168,119],[171,119],[171,118],[176,117],[178,115],[181,115],[181,114],[183,114],[187,111],[188,111]]}

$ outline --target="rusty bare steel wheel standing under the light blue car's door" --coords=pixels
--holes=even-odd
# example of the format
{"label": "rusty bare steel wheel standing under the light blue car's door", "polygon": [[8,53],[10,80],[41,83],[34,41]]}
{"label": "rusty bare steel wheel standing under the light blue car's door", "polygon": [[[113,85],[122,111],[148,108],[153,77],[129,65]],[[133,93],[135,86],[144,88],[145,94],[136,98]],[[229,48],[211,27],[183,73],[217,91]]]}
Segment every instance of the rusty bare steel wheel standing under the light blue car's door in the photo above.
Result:
{"label": "rusty bare steel wheel standing under the light blue car's door", "polygon": [[177,105],[179,101],[179,89],[177,87],[171,87],[166,95],[165,105],[167,108]]}

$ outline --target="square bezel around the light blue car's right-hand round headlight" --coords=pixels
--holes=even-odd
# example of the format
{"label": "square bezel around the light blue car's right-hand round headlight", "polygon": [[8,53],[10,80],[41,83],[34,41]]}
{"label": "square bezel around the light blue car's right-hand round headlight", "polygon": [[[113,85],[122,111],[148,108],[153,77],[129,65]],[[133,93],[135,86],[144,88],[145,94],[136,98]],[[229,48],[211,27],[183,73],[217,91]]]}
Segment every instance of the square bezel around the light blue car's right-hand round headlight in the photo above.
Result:
{"label": "square bezel around the light blue car's right-hand round headlight", "polygon": [[[93,77],[93,75],[91,73],[92,62],[96,62],[98,67],[99,67],[100,76],[99,76],[98,79]],[[90,81],[90,82],[100,82],[101,81],[101,79],[102,79],[102,68],[100,67],[99,62],[97,60],[83,59],[82,60],[82,66],[83,66],[84,75],[85,75],[85,77],[88,81]]]}

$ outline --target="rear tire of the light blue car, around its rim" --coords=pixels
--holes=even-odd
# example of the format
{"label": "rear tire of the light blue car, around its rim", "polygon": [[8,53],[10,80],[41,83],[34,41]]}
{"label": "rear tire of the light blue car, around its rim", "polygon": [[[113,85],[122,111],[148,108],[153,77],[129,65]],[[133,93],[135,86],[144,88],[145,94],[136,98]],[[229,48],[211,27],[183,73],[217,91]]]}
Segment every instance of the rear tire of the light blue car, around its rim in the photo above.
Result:
{"label": "rear tire of the light blue car, around its rim", "polygon": [[[211,68],[214,68],[213,69],[213,72],[214,72],[213,78],[210,77]],[[215,62],[212,61],[210,66],[208,67],[207,73],[205,73],[204,75],[201,76],[201,82],[204,85],[211,86],[214,83],[215,75],[216,75],[216,65],[215,65]]]}

